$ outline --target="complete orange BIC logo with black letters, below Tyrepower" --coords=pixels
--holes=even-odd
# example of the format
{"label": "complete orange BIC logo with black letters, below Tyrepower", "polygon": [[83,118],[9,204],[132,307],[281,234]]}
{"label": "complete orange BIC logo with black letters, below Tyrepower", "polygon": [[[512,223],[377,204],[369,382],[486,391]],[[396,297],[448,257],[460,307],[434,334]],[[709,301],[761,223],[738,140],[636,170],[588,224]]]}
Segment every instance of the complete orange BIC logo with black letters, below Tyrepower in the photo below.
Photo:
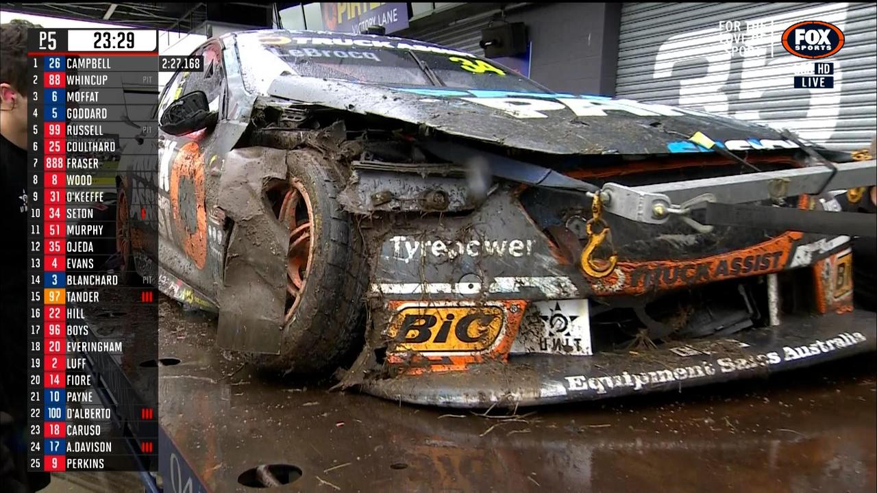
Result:
{"label": "complete orange BIC logo with black letters, below Tyrepower", "polygon": [[403,304],[389,323],[389,338],[396,343],[390,351],[480,354],[496,346],[505,325],[505,308],[501,304]]}

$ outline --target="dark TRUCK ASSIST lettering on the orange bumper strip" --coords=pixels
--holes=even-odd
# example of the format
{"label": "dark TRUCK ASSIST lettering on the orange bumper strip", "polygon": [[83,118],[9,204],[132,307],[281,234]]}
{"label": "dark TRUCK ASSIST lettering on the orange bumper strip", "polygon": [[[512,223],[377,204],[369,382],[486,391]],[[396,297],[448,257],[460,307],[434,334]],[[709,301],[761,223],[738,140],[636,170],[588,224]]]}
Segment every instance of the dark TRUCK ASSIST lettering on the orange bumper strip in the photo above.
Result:
{"label": "dark TRUCK ASSIST lettering on the orange bumper strip", "polygon": [[646,266],[633,269],[631,285],[649,289],[676,284],[698,284],[718,279],[752,275],[780,268],[782,252],[746,255],[719,261],[702,261],[676,265]]}

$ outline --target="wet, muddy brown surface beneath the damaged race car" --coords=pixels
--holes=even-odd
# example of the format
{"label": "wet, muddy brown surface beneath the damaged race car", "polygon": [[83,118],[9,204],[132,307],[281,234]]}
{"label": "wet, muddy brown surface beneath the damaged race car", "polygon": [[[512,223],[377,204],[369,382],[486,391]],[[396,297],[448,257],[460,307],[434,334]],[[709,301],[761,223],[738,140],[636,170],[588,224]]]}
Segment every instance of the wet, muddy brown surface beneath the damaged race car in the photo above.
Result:
{"label": "wet, muddy brown surface beneath the damaged race car", "polygon": [[266,490],[238,481],[260,464],[302,472],[268,491],[877,490],[874,354],[501,418],[266,380],[171,302],[161,326],[162,425],[213,491]]}

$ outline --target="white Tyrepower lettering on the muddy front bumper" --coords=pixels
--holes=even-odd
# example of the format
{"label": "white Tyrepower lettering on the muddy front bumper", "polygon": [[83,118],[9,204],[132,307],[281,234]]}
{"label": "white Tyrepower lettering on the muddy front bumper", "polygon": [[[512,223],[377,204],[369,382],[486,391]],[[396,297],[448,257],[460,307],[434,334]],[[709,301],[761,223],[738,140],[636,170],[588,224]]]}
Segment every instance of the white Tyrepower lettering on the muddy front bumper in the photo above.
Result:
{"label": "white Tyrepower lettering on the muddy front bumper", "polygon": [[389,239],[393,242],[393,257],[408,263],[415,257],[425,259],[455,259],[460,256],[467,257],[525,257],[533,253],[532,239],[468,239],[465,241],[452,241],[441,239],[427,239],[421,241],[408,236],[394,236]]}

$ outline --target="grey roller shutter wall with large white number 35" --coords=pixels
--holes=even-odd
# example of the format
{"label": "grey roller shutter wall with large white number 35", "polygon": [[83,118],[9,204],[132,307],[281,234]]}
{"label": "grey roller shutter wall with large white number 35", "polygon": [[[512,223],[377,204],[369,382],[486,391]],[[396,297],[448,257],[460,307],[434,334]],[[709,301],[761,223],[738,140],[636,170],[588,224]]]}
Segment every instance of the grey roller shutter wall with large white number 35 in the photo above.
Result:
{"label": "grey roller shutter wall with large white number 35", "polygon": [[[731,54],[723,43],[729,38],[719,21],[735,20],[743,32],[745,21],[773,21],[773,34],[752,44],[757,55]],[[796,66],[812,73],[812,61],[788,54],[781,35],[802,20],[845,33],[840,52],[823,60],[834,62],[834,89],[793,88]],[[787,127],[831,148],[863,148],[877,128],[877,5],[627,3],[616,89],[639,101]]]}

